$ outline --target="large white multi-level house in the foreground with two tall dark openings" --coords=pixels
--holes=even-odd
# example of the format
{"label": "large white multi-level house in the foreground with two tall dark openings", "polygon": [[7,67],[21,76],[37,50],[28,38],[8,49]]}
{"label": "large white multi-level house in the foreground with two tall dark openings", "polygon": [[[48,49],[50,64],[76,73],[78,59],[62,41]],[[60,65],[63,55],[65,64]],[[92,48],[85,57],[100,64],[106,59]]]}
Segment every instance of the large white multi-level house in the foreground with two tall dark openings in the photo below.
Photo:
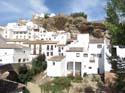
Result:
{"label": "large white multi-level house in the foreground with two tall dark openings", "polygon": [[[104,41],[102,38],[93,38],[89,34],[79,34],[77,40],[66,46],[65,56],[55,56],[48,59],[47,75],[56,77],[69,74],[83,76],[85,73],[104,73],[106,62],[104,60],[106,59]],[[52,74],[58,71],[60,73]]]}

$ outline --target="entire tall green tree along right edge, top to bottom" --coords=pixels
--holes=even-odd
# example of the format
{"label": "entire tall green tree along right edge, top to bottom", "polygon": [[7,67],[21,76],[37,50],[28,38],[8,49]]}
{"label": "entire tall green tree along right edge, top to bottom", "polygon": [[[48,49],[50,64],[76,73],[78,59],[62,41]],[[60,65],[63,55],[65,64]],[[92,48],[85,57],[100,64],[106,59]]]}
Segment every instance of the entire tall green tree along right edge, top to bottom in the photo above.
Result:
{"label": "entire tall green tree along right edge, top to bottom", "polygon": [[[107,0],[107,18],[106,26],[109,30],[111,44],[125,45],[125,0]],[[116,73],[117,79],[113,85],[119,93],[125,87],[124,82],[124,58],[114,55],[113,48],[112,56],[109,57],[109,62],[112,65],[113,72]]]}

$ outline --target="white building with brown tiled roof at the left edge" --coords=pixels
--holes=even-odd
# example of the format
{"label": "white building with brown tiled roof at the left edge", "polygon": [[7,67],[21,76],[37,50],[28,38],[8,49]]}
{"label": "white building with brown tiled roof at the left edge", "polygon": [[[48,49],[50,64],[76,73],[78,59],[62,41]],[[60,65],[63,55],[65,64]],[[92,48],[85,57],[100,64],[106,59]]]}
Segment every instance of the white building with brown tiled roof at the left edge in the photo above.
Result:
{"label": "white building with brown tiled roof at the left edge", "polygon": [[14,44],[0,44],[0,65],[28,63],[30,48]]}

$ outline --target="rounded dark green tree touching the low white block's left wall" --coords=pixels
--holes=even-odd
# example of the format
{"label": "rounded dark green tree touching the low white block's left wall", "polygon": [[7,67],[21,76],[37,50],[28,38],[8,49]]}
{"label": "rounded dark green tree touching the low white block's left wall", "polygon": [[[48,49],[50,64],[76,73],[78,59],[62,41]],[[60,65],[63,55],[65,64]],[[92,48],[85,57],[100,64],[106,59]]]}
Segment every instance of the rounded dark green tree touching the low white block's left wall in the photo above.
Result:
{"label": "rounded dark green tree touching the low white block's left wall", "polygon": [[37,74],[40,73],[47,68],[46,57],[44,54],[37,56],[32,60],[32,73]]}

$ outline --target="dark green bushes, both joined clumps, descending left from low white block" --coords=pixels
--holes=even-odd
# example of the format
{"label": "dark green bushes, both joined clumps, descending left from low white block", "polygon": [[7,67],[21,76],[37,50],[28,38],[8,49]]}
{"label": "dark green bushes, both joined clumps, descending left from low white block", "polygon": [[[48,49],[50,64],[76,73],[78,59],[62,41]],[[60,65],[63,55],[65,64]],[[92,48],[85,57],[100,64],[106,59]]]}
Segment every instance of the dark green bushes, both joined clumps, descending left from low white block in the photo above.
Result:
{"label": "dark green bushes, both joined clumps, descending left from low white block", "polygon": [[25,64],[20,65],[18,69],[19,74],[17,77],[17,81],[26,84],[28,81],[31,81],[36,74],[39,74],[40,72],[46,70],[47,63],[45,61],[45,58],[46,57],[44,54],[34,58],[32,61],[31,69],[28,69]]}

